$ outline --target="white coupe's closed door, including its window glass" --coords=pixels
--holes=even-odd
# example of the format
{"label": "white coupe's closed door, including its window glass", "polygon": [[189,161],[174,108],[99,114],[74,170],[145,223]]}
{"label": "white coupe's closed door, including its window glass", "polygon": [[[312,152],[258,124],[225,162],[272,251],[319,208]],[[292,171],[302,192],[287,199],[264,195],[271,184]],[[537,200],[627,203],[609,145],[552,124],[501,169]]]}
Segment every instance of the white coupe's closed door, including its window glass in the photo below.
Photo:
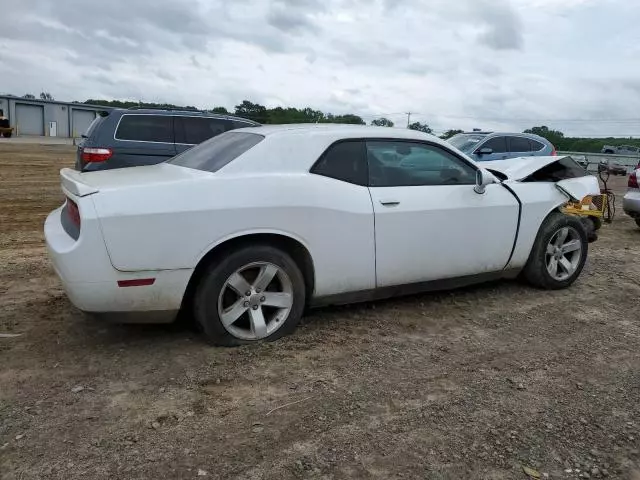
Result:
{"label": "white coupe's closed door, including its window glass", "polygon": [[368,140],[376,285],[502,270],[519,206],[502,185],[474,191],[477,167],[436,144]]}

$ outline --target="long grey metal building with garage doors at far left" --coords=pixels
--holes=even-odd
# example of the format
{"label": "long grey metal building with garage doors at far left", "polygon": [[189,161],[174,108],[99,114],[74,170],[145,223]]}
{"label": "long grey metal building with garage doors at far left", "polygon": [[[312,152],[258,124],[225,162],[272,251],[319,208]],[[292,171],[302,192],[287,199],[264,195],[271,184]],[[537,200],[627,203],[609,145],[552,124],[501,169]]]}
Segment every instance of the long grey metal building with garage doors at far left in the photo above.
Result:
{"label": "long grey metal building with garage doors at far left", "polygon": [[111,109],[0,95],[0,110],[9,119],[9,125],[15,128],[14,135],[77,138],[87,131],[98,112]]}

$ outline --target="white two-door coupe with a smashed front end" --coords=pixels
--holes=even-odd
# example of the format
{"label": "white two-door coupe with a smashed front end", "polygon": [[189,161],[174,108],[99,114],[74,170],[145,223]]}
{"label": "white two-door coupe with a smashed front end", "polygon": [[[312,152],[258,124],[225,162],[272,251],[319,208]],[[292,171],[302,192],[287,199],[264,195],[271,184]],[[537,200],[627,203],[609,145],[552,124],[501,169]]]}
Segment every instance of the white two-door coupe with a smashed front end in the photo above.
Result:
{"label": "white two-door coupe with a smashed front end", "polygon": [[46,243],[80,310],[187,311],[219,345],[277,339],[306,306],[517,275],[571,285],[587,236],[560,209],[597,180],[568,157],[483,166],[412,130],[244,128],[159,165],[61,170]]}

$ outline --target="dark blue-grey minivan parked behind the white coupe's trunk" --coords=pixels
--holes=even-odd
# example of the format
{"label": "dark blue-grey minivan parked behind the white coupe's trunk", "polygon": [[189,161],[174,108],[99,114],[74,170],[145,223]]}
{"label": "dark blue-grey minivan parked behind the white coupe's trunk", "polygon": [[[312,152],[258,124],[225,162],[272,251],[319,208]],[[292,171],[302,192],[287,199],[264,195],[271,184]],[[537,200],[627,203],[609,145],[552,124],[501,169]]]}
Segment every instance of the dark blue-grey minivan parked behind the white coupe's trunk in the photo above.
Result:
{"label": "dark blue-grey minivan parked behind the white coupe's trunk", "polygon": [[83,172],[136,167],[169,158],[228,130],[259,123],[197,111],[113,109],[89,126],[78,145]]}

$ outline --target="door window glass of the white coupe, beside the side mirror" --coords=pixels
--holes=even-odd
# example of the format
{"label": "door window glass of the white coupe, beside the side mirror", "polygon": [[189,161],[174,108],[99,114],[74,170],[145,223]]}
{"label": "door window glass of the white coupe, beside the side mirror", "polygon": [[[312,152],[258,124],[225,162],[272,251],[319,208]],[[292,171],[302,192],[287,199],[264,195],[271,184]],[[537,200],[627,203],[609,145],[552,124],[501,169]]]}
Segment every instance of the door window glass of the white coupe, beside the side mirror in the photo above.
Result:
{"label": "door window glass of the white coupe, beside the side mirror", "polygon": [[475,168],[436,145],[370,141],[367,160],[372,187],[475,184]]}

